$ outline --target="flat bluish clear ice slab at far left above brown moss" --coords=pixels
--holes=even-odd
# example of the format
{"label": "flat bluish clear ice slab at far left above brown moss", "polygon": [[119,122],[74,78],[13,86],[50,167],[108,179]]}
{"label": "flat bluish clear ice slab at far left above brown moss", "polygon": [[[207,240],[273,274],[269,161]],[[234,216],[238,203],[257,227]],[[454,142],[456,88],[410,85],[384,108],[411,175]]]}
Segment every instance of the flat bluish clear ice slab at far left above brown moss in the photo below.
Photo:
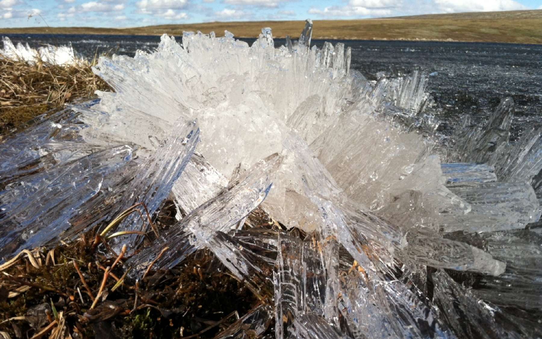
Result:
{"label": "flat bluish clear ice slab at far left above brown moss", "polygon": [[101,189],[104,175],[130,157],[129,147],[107,149],[8,184],[0,191],[0,255],[41,246],[68,229],[69,219]]}

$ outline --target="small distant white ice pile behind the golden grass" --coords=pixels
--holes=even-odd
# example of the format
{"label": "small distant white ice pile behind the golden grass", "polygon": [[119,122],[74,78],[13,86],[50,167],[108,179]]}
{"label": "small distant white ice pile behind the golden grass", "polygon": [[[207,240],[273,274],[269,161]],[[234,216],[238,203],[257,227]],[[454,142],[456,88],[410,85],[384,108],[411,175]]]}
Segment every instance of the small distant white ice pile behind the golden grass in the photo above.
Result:
{"label": "small distant white ice pile behind the golden grass", "polygon": [[30,63],[45,62],[50,65],[73,65],[79,60],[74,53],[71,44],[69,46],[42,46],[38,49],[31,48],[27,44],[17,43],[15,46],[9,37],[2,37],[4,48],[0,49],[0,58],[23,60]]}

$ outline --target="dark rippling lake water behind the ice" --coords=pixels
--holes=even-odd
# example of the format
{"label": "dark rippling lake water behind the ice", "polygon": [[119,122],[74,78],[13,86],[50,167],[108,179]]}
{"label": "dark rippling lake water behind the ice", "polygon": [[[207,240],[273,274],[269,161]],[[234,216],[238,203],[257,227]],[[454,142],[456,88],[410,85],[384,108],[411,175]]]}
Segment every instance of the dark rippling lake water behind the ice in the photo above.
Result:
{"label": "dark rippling lake water behind the ice", "polygon": [[[87,58],[115,52],[133,56],[135,50],[152,50],[158,36],[126,35],[8,35],[16,42],[67,44]],[[254,39],[243,39],[252,42]],[[180,42],[180,37],[177,37]],[[352,47],[352,68],[369,79],[378,72],[408,74],[419,68],[431,74],[429,92],[433,108],[449,130],[461,114],[470,113],[482,123],[505,96],[516,103],[513,138],[528,125],[542,121],[542,46],[505,43],[412,42],[412,41],[332,41]],[[284,41],[275,40],[275,46]],[[321,47],[324,41],[313,41]]]}

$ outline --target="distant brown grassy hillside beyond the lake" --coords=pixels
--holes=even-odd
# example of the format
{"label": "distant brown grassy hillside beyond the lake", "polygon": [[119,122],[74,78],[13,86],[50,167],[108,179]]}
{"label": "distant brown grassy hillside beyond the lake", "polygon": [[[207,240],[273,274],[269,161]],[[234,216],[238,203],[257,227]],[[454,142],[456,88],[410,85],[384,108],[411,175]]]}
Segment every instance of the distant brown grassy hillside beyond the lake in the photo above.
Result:
{"label": "distant brown grassy hillside beyond the lake", "polygon": [[[180,35],[182,31],[256,37],[262,27],[273,35],[297,37],[302,21],[210,22],[134,28],[40,27],[0,28],[2,33]],[[542,44],[542,10],[470,12],[364,20],[316,20],[313,39],[436,40]]]}

